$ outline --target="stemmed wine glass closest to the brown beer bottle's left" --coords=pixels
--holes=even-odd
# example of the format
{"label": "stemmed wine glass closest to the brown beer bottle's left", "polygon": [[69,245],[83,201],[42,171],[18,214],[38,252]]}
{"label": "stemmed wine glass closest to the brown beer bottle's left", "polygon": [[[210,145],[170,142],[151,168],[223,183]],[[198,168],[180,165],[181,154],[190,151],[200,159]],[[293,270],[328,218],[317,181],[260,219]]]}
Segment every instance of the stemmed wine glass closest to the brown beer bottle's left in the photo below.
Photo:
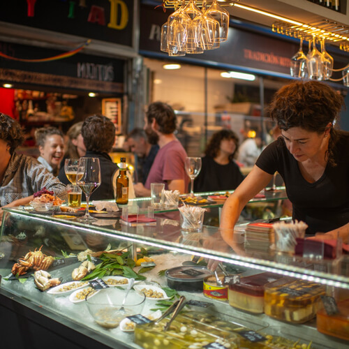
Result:
{"label": "stemmed wine glass closest to the brown beer bottle's left", "polygon": [[80,186],[86,195],[86,211],[79,221],[89,223],[96,221],[89,214],[89,198],[98,186],[101,185],[101,167],[99,165],[99,158],[80,158],[77,167],[76,184]]}

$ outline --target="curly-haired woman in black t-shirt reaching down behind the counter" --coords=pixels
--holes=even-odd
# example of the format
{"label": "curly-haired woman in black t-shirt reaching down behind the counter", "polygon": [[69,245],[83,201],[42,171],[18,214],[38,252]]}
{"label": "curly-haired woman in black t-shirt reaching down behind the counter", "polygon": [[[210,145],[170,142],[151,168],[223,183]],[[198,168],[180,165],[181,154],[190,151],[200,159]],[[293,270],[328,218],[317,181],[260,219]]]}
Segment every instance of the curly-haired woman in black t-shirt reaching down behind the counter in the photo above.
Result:
{"label": "curly-haired woman in black t-shirt reaching down behind the counter", "polygon": [[349,133],[334,128],[344,105],[332,87],[298,81],[276,92],[269,113],[281,137],[269,144],[253,170],[225,202],[221,228],[232,230],[251,198],[279,172],[292,202],[292,218],[323,239],[349,235]]}

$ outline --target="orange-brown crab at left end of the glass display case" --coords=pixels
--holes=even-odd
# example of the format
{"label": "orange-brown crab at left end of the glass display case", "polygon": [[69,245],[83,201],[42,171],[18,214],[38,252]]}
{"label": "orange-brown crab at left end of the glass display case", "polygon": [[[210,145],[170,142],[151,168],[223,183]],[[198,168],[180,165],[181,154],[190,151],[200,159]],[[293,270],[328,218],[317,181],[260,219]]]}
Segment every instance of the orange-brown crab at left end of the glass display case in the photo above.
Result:
{"label": "orange-brown crab at left end of the glass display case", "polygon": [[19,259],[15,265],[13,265],[13,268],[11,270],[12,274],[20,276],[23,274],[26,274],[29,268],[33,268],[34,270],[47,270],[50,265],[52,265],[52,262],[54,261],[54,258],[50,255],[45,255],[41,252],[41,248],[34,252],[29,251],[24,258]]}

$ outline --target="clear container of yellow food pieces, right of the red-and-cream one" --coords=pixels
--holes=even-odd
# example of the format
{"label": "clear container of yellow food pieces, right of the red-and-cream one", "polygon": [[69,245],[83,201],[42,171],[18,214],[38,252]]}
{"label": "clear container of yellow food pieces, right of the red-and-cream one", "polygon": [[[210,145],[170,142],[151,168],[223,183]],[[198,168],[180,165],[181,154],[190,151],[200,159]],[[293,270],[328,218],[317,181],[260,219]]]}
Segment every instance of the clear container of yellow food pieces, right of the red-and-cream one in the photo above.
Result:
{"label": "clear container of yellow food pieces, right of the red-and-cream one", "polygon": [[265,313],[272,318],[302,323],[315,317],[325,287],[309,281],[284,278],[265,285]]}

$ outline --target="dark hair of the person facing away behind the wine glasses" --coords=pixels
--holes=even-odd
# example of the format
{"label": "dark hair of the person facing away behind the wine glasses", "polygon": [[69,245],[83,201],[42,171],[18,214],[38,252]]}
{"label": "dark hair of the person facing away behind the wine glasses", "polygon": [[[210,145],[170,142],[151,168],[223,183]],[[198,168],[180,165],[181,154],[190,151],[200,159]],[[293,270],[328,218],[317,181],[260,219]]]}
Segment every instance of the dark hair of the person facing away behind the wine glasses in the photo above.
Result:
{"label": "dark hair of the person facing away behind the wine glasses", "polygon": [[89,151],[109,153],[115,142],[115,126],[104,115],[92,115],[84,120],[81,128],[84,144]]}

